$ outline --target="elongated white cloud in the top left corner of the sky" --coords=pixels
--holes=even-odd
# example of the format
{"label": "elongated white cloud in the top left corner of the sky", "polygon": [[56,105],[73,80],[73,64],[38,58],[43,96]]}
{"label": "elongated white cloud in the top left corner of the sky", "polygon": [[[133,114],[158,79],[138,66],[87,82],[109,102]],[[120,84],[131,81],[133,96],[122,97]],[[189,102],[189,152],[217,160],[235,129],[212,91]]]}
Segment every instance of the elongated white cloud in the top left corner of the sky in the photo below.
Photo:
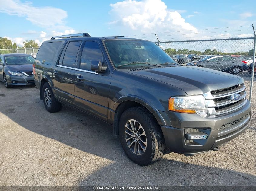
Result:
{"label": "elongated white cloud in the top left corner of the sky", "polygon": [[19,0],[0,0],[0,12],[25,17],[39,27],[53,27],[63,24],[67,12],[54,7],[34,7],[32,3]]}

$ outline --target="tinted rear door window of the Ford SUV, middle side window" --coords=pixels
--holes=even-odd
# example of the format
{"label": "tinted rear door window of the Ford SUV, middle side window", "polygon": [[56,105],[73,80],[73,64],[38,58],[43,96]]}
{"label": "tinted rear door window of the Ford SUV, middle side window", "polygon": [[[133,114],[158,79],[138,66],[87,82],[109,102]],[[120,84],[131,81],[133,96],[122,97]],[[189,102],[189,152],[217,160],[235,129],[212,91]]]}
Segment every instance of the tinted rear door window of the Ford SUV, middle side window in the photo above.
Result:
{"label": "tinted rear door window of the Ford SUV, middle side window", "polygon": [[[62,55],[60,57],[59,65],[75,68],[76,56],[80,47],[81,41],[71,41],[66,45],[62,51],[64,53],[63,60]],[[66,48],[66,49],[65,49]],[[62,63],[61,63],[62,60]]]}

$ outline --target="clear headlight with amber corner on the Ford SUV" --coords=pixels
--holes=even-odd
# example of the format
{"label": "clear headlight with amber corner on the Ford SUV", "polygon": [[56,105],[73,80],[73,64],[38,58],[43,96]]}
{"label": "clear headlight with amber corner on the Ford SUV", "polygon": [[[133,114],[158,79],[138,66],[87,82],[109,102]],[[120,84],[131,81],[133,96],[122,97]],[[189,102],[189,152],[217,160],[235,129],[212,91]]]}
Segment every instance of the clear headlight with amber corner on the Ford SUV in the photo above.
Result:
{"label": "clear headlight with amber corner on the Ford SUV", "polygon": [[171,97],[169,110],[181,113],[198,113],[201,116],[208,114],[206,102],[202,95]]}

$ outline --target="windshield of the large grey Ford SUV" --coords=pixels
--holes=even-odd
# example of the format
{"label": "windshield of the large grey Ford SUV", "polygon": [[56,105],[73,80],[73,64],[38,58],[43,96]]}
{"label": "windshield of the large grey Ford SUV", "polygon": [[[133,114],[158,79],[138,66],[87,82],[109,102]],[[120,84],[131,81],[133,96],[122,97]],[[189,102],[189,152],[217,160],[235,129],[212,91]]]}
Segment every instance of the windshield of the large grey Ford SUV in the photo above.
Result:
{"label": "windshield of the large grey Ford SUV", "polygon": [[[120,69],[152,67],[176,63],[155,43],[145,40],[105,40],[106,50],[115,67]],[[168,62],[168,63],[167,63]]]}

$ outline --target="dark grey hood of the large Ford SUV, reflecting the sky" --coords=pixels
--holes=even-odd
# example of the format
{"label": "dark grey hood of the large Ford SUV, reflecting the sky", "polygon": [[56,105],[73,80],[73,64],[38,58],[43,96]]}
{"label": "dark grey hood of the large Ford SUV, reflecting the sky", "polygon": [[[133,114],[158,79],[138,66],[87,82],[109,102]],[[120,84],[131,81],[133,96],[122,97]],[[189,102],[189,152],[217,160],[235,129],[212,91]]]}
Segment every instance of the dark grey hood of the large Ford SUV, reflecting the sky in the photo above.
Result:
{"label": "dark grey hood of the large Ford SUV, reflecting the sky", "polygon": [[187,95],[204,94],[244,82],[236,75],[196,66],[171,66],[127,71],[182,89]]}

